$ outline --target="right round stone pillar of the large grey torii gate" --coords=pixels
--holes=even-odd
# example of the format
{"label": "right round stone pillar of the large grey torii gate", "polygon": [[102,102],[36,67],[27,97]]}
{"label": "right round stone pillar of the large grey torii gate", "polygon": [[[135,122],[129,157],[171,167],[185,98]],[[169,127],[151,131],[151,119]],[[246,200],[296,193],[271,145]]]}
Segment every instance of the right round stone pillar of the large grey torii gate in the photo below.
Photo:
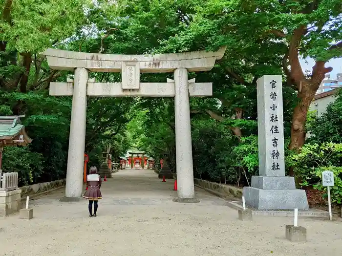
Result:
{"label": "right round stone pillar of the large grey torii gate", "polygon": [[188,70],[177,68],[173,74],[178,186],[178,198],[175,198],[174,201],[199,202],[194,198]]}

